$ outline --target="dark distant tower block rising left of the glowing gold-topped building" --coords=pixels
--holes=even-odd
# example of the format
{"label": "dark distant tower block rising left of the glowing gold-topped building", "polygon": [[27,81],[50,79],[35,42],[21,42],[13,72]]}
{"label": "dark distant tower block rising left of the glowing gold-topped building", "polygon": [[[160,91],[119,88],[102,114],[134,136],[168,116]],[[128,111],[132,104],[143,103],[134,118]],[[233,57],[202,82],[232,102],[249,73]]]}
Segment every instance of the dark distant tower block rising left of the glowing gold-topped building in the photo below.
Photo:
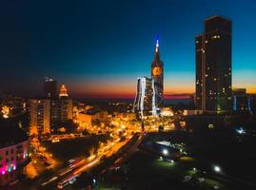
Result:
{"label": "dark distant tower block rising left of the glowing gold-topped building", "polygon": [[46,98],[56,98],[57,97],[57,81],[45,78],[44,81],[44,92]]}

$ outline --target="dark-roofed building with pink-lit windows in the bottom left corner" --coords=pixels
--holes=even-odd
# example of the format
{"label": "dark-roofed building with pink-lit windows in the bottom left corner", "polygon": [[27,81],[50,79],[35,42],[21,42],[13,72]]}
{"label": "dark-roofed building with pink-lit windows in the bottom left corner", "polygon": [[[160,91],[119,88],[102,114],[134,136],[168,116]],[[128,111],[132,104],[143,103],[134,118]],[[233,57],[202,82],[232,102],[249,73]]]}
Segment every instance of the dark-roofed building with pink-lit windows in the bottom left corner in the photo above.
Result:
{"label": "dark-roofed building with pink-lit windows in the bottom left corner", "polygon": [[29,163],[29,138],[18,126],[0,124],[0,186],[15,180]]}

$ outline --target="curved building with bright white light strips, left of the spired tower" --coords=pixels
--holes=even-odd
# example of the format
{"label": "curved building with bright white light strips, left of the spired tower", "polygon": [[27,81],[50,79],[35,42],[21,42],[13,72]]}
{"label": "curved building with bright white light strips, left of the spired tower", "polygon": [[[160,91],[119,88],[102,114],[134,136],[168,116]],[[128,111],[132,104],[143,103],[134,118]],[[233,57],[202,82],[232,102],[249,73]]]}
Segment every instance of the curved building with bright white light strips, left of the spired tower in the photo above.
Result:
{"label": "curved building with bright white light strips, left of the spired tower", "polygon": [[139,77],[137,94],[133,104],[133,111],[139,118],[143,119],[144,116],[157,114],[155,94],[154,80],[148,77]]}

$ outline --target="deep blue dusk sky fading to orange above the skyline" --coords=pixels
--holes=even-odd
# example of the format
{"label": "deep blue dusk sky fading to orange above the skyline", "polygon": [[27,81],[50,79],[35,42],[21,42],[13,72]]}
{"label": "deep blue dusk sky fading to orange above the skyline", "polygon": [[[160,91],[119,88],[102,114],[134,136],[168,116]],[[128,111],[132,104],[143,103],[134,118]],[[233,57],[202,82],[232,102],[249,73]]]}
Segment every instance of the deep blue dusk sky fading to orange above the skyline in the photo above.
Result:
{"label": "deep blue dusk sky fading to orange above the skyline", "polygon": [[194,37],[219,14],[233,22],[233,87],[256,93],[256,1],[20,1],[0,6],[0,94],[35,96],[45,76],[73,98],[134,97],[156,37],[166,94],[193,93]]}

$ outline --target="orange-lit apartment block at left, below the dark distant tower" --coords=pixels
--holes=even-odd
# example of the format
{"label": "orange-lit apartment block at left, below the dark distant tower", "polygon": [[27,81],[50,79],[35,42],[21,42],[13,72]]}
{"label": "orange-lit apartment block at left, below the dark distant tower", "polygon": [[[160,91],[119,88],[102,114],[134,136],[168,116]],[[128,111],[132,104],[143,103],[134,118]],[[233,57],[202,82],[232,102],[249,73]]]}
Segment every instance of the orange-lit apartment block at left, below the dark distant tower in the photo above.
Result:
{"label": "orange-lit apartment block at left, below the dark distant tower", "polygon": [[41,135],[50,132],[50,100],[30,100],[30,134]]}

